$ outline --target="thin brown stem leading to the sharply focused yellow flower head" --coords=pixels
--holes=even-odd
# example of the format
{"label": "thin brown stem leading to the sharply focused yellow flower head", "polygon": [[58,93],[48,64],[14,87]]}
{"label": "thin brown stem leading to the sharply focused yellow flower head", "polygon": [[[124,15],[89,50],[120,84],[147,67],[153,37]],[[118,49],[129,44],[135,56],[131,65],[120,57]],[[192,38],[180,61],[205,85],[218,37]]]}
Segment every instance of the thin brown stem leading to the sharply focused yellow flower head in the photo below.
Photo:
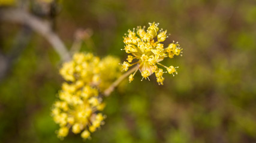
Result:
{"label": "thin brown stem leading to the sharply focused yellow flower head", "polygon": [[112,83],[112,85],[109,86],[109,88],[107,88],[104,91],[104,95],[106,97],[108,97],[111,92],[116,88],[116,86],[119,85],[119,83],[122,82],[122,80],[124,80],[127,76],[129,76],[129,74],[131,74],[133,71],[135,71],[136,69],[138,69],[138,65],[132,67],[132,69],[128,70],[126,73],[122,74],[122,76],[120,76],[115,82]]}

